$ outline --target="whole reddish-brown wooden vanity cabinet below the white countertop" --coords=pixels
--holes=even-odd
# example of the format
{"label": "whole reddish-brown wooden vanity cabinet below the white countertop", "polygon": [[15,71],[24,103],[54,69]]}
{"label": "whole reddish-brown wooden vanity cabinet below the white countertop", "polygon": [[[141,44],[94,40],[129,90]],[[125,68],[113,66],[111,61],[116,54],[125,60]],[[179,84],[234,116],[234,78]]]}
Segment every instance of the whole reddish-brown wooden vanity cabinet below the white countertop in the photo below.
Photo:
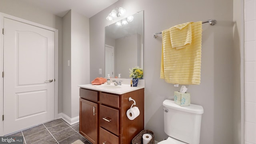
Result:
{"label": "whole reddish-brown wooden vanity cabinet below the white countertop", "polygon": [[[134,106],[140,110],[140,115],[134,120],[126,116],[126,111],[134,103],[129,97],[136,101]],[[79,132],[92,144],[131,144],[142,130],[144,88],[124,94],[80,88]]]}

